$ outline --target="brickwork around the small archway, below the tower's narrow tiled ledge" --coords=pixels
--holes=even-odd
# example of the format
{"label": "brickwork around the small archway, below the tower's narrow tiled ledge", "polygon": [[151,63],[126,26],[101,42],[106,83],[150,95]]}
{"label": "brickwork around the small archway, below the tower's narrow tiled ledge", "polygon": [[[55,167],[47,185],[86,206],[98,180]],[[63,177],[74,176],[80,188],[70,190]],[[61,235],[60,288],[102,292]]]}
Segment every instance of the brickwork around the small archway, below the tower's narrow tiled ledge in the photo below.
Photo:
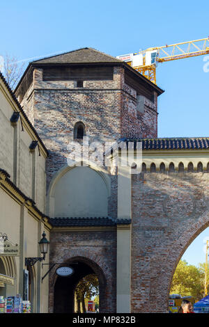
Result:
{"label": "brickwork around the small archway, below the tower's narrow tiled ledge", "polygon": [[[50,260],[88,262],[100,285],[100,312],[116,312],[116,230],[52,232],[50,238]],[[56,266],[57,268],[57,266]],[[49,312],[54,312],[54,285],[56,268],[49,276]]]}

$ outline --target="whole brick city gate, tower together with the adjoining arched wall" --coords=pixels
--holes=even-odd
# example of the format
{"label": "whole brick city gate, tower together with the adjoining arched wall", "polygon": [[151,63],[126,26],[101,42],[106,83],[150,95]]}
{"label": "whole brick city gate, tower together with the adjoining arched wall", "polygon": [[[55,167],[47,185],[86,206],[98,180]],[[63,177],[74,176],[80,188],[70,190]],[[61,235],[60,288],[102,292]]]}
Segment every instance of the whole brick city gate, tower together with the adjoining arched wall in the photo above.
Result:
{"label": "whole brick city gate, tower together with the adjoining arched wall", "polygon": [[[80,258],[78,273],[100,267],[104,312],[167,312],[178,260],[208,226],[209,139],[157,138],[163,92],[127,63],[91,48],[30,63],[16,89],[49,150],[49,260]],[[75,133],[77,122],[84,129]],[[71,141],[91,159],[95,148],[113,142],[102,150],[110,165],[68,167]],[[127,162],[127,149],[134,165],[114,166],[118,156]],[[53,312],[63,289],[55,270],[49,287]]]}

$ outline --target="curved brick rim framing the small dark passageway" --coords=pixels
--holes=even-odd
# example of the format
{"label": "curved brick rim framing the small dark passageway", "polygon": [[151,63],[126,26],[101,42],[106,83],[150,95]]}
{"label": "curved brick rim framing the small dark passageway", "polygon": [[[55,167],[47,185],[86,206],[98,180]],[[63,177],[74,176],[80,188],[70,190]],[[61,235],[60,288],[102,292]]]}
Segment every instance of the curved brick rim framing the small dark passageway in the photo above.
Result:
{"label": "curved brick rim framing the small dark passageway", "polygon": [[[87,250],[77,249],[69,250],[59,260],[59,265],[72,264],[73,262],[84,262],[94,273],[98,276],[100,283],[100,312],[108,312],[107,307],[109,301],[107,294],[111,291],[112,276],[111,269],[105,264],[104,260],[99,255],[93,255]],[[49,312],[54,312],[54,287],[58,276],[56,275],[56,269],[58,265],[52,269],[49,275]]]}

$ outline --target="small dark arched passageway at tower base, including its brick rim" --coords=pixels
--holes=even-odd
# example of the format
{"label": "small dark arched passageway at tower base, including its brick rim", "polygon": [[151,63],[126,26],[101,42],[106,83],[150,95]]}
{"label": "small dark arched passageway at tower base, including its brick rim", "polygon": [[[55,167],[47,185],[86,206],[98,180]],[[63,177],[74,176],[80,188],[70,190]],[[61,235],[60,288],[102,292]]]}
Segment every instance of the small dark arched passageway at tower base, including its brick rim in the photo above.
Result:
{"label": "small dark arched passageway at tower base, including its brick rim", "polygon": [[[107,294],[114,296],[114,291],[111,272],[105,262],[99,256],[83,250],[69,251],[61,259],[49,278],[49,312],[75,312],[75,287],[82,278],[92,273],[99,282],[100,312],[107,312],[108,304],[111,303]],[[71,266],[74,273],[68,278],[57,276],[56,269],[59,266]]]}

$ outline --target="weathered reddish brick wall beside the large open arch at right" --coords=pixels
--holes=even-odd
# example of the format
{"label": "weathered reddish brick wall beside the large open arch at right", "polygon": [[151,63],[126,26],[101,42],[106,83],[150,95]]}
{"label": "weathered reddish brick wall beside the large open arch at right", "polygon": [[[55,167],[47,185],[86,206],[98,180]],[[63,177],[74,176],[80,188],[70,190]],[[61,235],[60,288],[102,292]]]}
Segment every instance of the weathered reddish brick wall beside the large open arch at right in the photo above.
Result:
{"label": "weathered reddish brick wall beside the large open arch at right", "polygon": [[209,225],[208,181],[208,173],[132,175],[132,312],[167,312],[176,265]]}

